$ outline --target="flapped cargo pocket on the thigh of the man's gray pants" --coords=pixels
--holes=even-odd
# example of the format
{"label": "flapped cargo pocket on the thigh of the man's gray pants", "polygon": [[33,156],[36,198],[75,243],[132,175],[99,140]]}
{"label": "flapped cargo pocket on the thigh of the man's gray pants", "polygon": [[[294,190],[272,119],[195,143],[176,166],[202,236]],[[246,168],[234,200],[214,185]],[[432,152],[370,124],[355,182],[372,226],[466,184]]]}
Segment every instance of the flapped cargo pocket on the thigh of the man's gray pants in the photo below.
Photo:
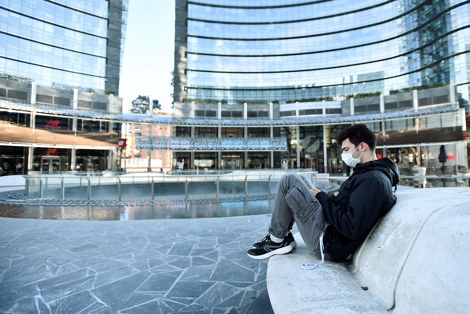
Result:
{"label": "flapped cargo pocket on the thigh of the man's gray pants", "polygon": [[287,192],[286,203],[297,216],[300,223],[312,216],[320,207],[320,203],[313,196],[309,188],[301,180],[297,180],[289,192]]}

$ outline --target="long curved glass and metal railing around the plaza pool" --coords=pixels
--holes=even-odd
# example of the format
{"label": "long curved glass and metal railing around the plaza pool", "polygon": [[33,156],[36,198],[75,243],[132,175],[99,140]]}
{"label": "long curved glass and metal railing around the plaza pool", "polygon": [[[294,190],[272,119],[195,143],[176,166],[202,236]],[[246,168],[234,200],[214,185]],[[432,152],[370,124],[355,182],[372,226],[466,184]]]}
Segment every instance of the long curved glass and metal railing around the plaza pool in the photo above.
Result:
{"label": "long curved glass and metal railing around the plaza pool", "polygon": [[[273,182],[279,181],[286,170],[276,171],[235,171],[222,174],[164,174],[164,173],[108,173],[106,176],[80,176],[73,173],[25,175],[26,196],[39,198],[77,199],[101,199],[119,200],[123,194],[131,194],[133,197],[151,199],[156,198],[198,198],[198,197],[227,197],[227,196],[252,196],[272,194]],[[306,175],[313,183],[317,184],[316,171],[297,172]],[[156,185],[159,190],[166,188],[170,195],[157,195]],[[182,186],[184,184],[184,195]],[[203,185],[204,186],[201,186]],[[138,185],[138,186],[137,186]],[[114,188],[114,186],[116,188]],[[83,193],[84,190],[86,193]],[[101,190],[100,190],[101,189]],[[193,197],[190,197],[192,189]],[[233,193],[232,189],[237,190]],[[95,191],[94,191],[95,190]],[[180,190],[180,193],[178,191]],[[229,190],[230,192],[227,192]],[[99,193],[94,195],[98,191]],[[133,192],[132,192],[133,191]],[[176,191],[176,193],[175,193]],[[127,192],[127,193],[124,193]],[[103,193],[115,193],[106,195]],[[134,193],[134,194],[133,194]],[[71,196],[72,197],[67,197]],[[93,196],[96,196],[93,198]],[[112,197],[111,197],[112,196]],[[129,199],[129,198],[127,198]]]}

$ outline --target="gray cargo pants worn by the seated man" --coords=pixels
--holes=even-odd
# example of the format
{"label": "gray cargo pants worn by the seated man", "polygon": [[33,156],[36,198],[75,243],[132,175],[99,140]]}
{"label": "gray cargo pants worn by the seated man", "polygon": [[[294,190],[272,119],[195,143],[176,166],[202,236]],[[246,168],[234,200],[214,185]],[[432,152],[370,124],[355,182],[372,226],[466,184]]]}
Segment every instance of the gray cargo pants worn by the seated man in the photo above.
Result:
{"label": "gray cargo pants worn by the seated man", "polygon": [[[303,174],[286,173],[277,186],[269,233],[283,238],[294,222],[307,247],[320,256],[320,235],[329,225],[318,200],[313,196],[312,183]],[[325,259],[332,259],[325,252]]]}

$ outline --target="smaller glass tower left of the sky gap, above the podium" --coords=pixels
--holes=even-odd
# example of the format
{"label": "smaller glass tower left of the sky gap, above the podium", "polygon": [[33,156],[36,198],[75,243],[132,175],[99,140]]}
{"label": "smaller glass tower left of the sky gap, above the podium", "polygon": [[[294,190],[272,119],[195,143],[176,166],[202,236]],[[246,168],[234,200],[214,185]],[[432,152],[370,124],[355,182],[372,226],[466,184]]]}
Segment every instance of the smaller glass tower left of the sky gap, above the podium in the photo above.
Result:
{"label": "smaller glass tower left of the sky gap, above the podium", "polygon": [[128,0],[1,0],[0,74],[118,94]]}

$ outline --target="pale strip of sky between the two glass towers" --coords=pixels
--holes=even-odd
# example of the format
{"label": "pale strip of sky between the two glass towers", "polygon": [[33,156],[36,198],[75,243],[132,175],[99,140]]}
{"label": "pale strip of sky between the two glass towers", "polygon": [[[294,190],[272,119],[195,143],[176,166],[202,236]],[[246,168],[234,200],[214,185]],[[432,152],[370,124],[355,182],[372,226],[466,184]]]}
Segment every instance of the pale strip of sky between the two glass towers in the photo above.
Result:
{"label": "pale strip of sky between the two glass towers", "polygon": [[173,101],[174,0],[129,0],[124,57],[119,81],[123,112],[139,95],[158,99],[162,109]]}

